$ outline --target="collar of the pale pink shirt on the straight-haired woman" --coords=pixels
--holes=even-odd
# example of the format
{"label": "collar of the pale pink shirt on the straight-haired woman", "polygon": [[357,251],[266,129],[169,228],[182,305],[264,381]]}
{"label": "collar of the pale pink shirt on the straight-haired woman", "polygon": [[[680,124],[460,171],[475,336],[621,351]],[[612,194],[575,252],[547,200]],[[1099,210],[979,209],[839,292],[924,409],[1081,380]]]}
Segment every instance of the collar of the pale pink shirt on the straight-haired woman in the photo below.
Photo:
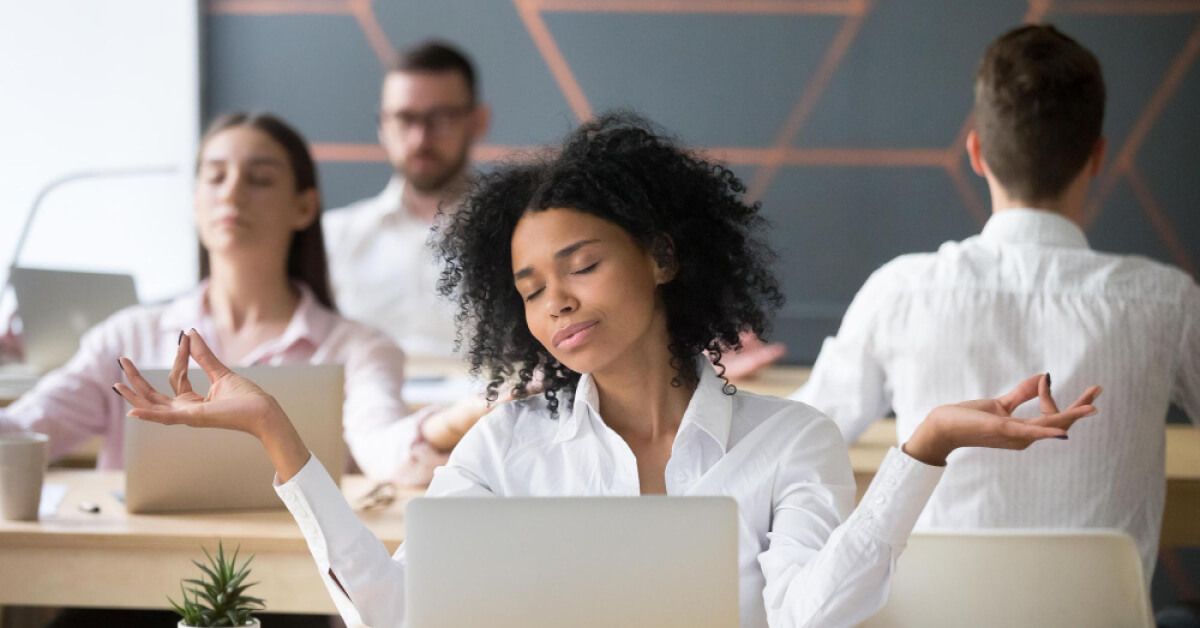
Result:
{"label": "collar of the pale pink shirt on the straight-haired woman", "polygon": [[[292,319],[283,333],[270,341],[264,342],[253,352],[246,355],[247,364],[253,364],[264,358],[283,353],[299,342],[311,343],[313,347],[320,346],[329,335],[336,315],[326,310],[308,286],[293,281],[292,286],[300,293],[300,301],[296,304]],[[204,280],[196,288],[176,298],[163,311],[158,318],[158,328],[163,333],[175,334],[191,328],[206,328],[212,316],[204,304],[204,295],[209,291],[209,280]],[[214,343],[216,339],[210,339]]]}

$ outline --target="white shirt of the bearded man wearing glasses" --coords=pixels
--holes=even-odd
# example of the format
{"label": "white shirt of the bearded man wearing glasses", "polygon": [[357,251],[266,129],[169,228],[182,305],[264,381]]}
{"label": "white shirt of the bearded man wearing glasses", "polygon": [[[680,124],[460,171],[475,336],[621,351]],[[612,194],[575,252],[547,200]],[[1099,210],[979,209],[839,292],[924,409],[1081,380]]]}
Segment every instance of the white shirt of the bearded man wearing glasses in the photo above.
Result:
{"label": "white shirt of the bearded man wearing glasses", "polygon": [[404,183],[322,215],[342,313],[386,331],[409,355],[455,357],[454,304],[438,295],[432,225],[403,205]]}

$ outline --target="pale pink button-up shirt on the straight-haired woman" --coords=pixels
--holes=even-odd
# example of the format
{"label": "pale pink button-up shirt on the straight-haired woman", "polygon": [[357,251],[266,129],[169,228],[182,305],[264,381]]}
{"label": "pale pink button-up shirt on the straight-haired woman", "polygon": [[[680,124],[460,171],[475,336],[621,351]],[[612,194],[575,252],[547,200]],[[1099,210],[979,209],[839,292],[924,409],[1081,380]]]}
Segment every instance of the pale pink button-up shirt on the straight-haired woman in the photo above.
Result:
{"label": "pale pink button-up shirt on the straight-haired woman", "polygon": [[[304,285],[283,334],[247,353],[240,365],[341,364],[346,370],[344,437],[359,467],[377,478],[408,471],[410,447],[422,414],[408,415],[401,397],[404,354],[383,333],[326,310]],[[221,357],[221,341],[205,306],[208,282],[174,301],[127,307],[84,334],[79,351],[62,367],[0,409],[0,430],[32,430],[50,437],[59,457],[84,441],[102,436],[97,467],[124,467],[125,413],[128,405],[113,391],[125,379],[116,358],[139,369],[169,369],[179,333],[196,328]],[[167,391],[169,393],[169,391]]]}

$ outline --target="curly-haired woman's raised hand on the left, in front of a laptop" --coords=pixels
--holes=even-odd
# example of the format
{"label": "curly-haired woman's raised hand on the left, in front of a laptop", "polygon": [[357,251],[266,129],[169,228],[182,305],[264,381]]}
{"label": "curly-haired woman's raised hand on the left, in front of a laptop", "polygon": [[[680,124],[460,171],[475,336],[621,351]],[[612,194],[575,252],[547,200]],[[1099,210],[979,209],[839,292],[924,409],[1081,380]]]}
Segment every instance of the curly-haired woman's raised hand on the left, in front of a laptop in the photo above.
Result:
{"label": "curly-haired woman's raised hand on the left, in front of a laptop", "polygon": [[[205,396],[192,390],[187,378],[190,359],[196,360],[211,382]],[[281,482],[287,482],[308,461],[308,448],[275,397],[254,382],[230,371],[194,329],[180,337],[175,352],[169,376],[175,393],[173,397],[155,390],[128,358],[118,361],[130,383],[116,383],[113,389],[133,406],[130,417],[166,425],[221,427],[251,433],[263,443]]]}

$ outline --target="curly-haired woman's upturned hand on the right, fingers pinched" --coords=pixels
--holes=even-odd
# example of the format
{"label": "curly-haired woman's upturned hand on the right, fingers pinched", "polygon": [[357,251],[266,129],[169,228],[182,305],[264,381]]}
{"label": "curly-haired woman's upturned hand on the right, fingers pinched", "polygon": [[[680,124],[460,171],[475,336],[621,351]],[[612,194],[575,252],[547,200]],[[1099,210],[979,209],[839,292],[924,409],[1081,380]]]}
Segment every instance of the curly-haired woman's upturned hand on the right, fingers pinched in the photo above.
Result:
{"label": "curly-haired woman's upturned hand on the right, fingers pinched", "polygon": [[[1093,385],[1070,407],[1060,411],[1050,395],[1049,376],[1036,375],[996,399],[934,408],[902,449],[926,465],[942,466],[950,451],[960,447],[1025,449],[1045,438],[1067,438],[1067,430],[1076,420],[1096,413],[1092,402],[1099,395],[1100,387]],[[1042,415],[1013,418],[1013,411],[1033,397],[1040,399]]]}

